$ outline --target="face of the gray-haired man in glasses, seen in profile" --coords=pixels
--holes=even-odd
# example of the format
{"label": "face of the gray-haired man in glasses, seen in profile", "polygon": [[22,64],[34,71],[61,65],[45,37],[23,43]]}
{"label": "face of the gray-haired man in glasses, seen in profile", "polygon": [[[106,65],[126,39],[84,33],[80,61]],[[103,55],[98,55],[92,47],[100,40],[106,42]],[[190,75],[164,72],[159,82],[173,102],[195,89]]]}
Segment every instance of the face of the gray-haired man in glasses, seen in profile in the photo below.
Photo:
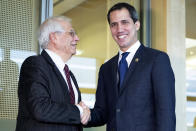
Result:
{"label": "face of the gray-haired man in glasses, seen in profile", "polygon": [[76,46],[79,41],[74,29],[68,22],[60,22],[65,32],[58,33],[56,37],[56,49],[60,54],[74,55],[76,54]]}

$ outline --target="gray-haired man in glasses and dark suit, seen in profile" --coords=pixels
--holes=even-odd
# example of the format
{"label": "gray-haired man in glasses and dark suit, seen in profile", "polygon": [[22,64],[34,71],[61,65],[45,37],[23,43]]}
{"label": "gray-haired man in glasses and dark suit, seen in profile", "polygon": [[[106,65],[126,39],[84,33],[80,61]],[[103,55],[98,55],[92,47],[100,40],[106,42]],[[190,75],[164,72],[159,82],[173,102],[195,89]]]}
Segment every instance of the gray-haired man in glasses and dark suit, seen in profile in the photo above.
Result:
{"label": "gray-haired man in glasses and dark suit, seen in profile", "polygon": [[78,105],[81,94],[67,61],[79,41],[70,19],[52,17],[40,27],[40,55],[21,67],[16,131],[82,131],[89,110]]}

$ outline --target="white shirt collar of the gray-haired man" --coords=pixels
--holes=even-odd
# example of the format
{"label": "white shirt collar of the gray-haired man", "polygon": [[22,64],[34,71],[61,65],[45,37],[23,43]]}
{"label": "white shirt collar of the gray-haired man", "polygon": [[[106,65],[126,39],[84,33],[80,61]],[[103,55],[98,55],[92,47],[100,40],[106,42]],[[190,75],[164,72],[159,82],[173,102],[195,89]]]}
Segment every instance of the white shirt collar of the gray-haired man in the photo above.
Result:
{"label": "white shirt collar of the gray-haired man", "polygon": [[48,55],[51,57],[51,59],[58,68],[60,68],[61,70],[64,69],[66,63],[62,60],[62,58],[59,55],[57,55],[49,49],[45,49],[45,51],[48,53]]}

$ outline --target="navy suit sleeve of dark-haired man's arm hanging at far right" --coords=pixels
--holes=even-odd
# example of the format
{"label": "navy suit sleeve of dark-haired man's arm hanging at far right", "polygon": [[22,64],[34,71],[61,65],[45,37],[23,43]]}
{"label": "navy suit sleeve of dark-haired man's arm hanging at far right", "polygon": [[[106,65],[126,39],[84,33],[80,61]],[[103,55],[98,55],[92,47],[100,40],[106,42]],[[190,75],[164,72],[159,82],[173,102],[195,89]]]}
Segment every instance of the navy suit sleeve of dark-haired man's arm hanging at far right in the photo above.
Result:
{"label": "navy suit sleeve of dark-haired man's arm hanging at far right", "polygon": [[154,62],[152,83],[155,96],[156,131],[175,131],[175,78],[167,54]]}

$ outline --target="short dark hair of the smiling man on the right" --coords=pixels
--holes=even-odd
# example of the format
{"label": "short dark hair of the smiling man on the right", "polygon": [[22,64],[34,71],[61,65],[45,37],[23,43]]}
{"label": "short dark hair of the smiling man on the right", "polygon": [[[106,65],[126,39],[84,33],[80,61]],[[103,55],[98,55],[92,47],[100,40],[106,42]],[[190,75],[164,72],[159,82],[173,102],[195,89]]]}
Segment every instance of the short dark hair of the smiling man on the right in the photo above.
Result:
{"label": "short dark hair of the smiling man on the right", "polygon": [[128,3],[117,3],[115,5],[113,5],[110,10],[108,11],[108,14],[107,14],[107,19],[108,19],[108,23],[110,24],[110,13],[112,11],[115,11],[115,10],[121,10],[122,8],[125,8],[129,11],[129,14],[130,14],[130,18],[133,20],[133,22],[135,23],[136,21],[138,21],[138,14],[137,14],[137,11],[136,9],[128,4]]}

